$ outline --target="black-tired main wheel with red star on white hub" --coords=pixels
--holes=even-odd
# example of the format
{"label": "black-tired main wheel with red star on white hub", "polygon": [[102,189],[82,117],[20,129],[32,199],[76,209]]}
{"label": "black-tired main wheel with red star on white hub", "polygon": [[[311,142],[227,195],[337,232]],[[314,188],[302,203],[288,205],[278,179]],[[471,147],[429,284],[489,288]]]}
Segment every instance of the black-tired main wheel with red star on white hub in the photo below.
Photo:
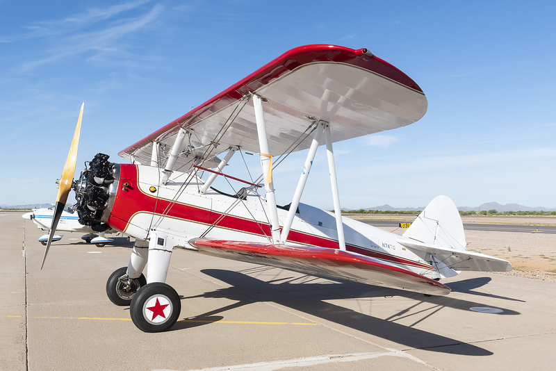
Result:
{"label": "black-tired main wheel with red star on white hub", "polygon": [[143,286],[131,299],[129,313],[131,320],[145,332],[161,332],[170,329],[177,322],[181,312],[179,295],[162,282]]}

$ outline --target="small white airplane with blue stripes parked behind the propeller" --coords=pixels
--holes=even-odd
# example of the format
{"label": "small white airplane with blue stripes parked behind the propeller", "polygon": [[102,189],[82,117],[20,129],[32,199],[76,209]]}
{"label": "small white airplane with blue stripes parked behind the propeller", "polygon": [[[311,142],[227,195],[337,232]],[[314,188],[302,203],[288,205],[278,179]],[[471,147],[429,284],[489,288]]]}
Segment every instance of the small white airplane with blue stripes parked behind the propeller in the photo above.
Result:
{"label": "small white airplane with blue stripes parked behind the propeller", "polygon": [[[58,232],[82,232],[85,233],[81,236],[81,240],[87,243],[94,243],[97,247],[103,247],[107,243],[113,242],[111,238],[104,236],[105,232],[95,233],[91,226],[83,225],[79,222],[79,215],[75,212],[76,205],[67,206],[64,208],[60,220],[56,226]],[[33,211],[22,215],[24,219],[32,220],[42,231],[49,231],[52,225],[52,218],[54,215],[54,208],[33,208]],[[47,245],[49,233],[40,236],[39,242],[42,245]],[[63,235],[54,235],[52,241],[59,241]]]}

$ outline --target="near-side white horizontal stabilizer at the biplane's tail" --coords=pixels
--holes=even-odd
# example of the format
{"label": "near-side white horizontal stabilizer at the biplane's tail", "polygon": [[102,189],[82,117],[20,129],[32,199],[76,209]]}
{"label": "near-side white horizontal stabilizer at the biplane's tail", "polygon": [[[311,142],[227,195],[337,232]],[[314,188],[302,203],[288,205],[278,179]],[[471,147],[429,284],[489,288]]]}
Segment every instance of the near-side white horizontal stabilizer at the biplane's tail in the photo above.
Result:
{"label": "near-side white horizontal stabilizer at the biplane's tail", "polygon": [[431,254],[439,262],[448,265],[452,270],[475,270],[480,272],[509,272],[512,270],[512,264],[508,261],[478,252],[429,245],[405,238],[400,238],[397,242],[405,247],[409,247],[409,249],[417,249]]}

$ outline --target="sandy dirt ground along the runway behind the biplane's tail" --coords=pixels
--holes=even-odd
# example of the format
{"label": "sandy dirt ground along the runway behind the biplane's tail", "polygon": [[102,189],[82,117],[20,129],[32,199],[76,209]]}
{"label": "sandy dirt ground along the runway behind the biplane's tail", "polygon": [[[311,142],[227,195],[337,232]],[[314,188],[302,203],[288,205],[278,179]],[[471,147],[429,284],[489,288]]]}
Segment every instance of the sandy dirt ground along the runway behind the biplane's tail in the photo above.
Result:
{"label": "sandy dirt ground along the runway behind the biplane's tail", "polygon": [[[352,215],[350,215],[351,217]],[[364,219],[411,221],[413,215],[362,215]],[[363,219],[354,217],[354,219]],[[556,217],[532,216],[468,216],[461,217],[464,223],[481,224],[516,224],[516,225],[556,225]],[[386,228],[385,228],[386,229]],[[402,234],[405,229],[386,229]],[[497,274],[556,281],[556,234],[554,233],[521,233],[466,231],[467,249],[482,254],[506,259],[514,270]]]}

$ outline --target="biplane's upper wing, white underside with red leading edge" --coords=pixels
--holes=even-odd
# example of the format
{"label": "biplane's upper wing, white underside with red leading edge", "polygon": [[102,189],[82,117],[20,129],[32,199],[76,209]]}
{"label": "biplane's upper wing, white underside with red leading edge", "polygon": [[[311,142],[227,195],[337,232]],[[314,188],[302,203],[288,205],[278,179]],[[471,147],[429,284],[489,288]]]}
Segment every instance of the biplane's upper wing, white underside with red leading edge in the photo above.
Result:
{"label": "biplane's upper wing, white underside with red leading edge", "polygon": [[[147,164],[152,143],[158,142],[162,152],[167,153],[181,128],[190,129],[185,151],[188,156],[182,156],[177,167],[193,157],[208,159],[205,149],[211,142],[219,143],[211,156],[227,151],[230,146],[258,152],[254,108],[249,101],[251,93],[265,99],[265,123],[272,156],[283,154],[292,145],[297,146],[295,150],[309,148],[311,138],[304,138],[304,133],[319,120],[330,123],[332,140],[336,142],[409,125],[427,110],[427,99],[419,86],[367,49],[307,45],[282,54],[124,149],[120,156]],[[234,117],[231,126],[222,131],[231,117]]]}

